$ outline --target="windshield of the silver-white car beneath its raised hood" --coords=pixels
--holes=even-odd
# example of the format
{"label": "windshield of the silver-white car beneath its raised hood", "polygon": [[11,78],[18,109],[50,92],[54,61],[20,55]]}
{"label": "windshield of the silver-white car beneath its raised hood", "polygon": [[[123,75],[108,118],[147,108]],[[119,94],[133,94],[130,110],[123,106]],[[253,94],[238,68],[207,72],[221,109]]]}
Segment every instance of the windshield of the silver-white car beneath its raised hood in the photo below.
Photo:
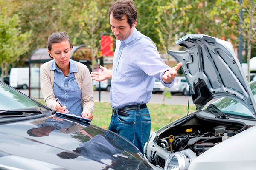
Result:
{"label": "windshield of the silver-white car beneath its raised hood", "polygon": [[[256,81],[250,83],[250,88],[253,92],[253,98],[256,100]],[[255,119],[255,116],[250,112],[249,109],[234,99],[223,98],[216,101],[214,105],[226,115],[236,115],[244,118]]]}

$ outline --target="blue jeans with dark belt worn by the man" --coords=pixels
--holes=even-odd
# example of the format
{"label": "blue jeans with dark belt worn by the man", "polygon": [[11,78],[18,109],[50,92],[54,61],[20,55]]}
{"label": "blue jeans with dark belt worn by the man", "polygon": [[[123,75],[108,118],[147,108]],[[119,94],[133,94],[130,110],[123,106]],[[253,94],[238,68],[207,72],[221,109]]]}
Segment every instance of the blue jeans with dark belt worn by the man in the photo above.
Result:
{"label": "blue jeans with dark belt worn by the man", "polygon": [[112,114],[108,130],[124,136],[144,154],[144,146],[148,142],[151,125],[148,108],[126,111],[126,113],[129,113],[129,116]]}

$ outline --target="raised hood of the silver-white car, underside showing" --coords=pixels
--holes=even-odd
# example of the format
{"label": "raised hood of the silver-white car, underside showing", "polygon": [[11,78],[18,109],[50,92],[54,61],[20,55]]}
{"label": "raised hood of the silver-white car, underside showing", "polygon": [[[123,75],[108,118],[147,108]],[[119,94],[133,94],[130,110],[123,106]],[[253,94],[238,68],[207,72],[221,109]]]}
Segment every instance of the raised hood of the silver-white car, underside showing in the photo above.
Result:
{"label": "raised hood of the silver-white car, underside showing", "polygon": [[245,105],[254,115],[253,94],[230,42],[204,34],[189,34],[175,42],[186,51],[167,53],[189,82],[192,100],[199,110],[211,99],[228,97]]}

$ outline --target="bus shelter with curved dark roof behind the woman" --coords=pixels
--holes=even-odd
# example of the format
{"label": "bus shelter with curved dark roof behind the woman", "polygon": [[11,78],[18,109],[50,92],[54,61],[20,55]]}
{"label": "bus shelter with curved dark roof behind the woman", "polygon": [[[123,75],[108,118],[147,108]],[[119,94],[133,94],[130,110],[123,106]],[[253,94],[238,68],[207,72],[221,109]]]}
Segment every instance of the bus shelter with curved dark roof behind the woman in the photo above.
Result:
{"label": "bus shelter with curved dark roof behind the woman", "polygon": [[[89,68],[91,72],[92,51],[87,45],[73,46],[71,57],[75,61],[81,62]],[[42,99],[40,82],[40,67],[45,62],[52,60],[47,48],[38,48],[32,52],[29,57],[29,96],[36,99]]]}

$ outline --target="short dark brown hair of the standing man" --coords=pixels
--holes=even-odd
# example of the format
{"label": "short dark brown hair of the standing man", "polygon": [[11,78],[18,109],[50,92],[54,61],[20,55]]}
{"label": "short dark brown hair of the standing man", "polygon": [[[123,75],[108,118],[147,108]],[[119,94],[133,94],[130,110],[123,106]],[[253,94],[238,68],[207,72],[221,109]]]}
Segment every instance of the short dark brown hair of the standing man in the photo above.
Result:
{"label": "short dark brown hair of the standing man", "polygon": [[132,27],[137,20],[137,8],[132,0],[117,0],[109,8],[109,17],[111,13],[113,17],[119,21],[122,21],[124,15],[126,15],[130,27]]}

